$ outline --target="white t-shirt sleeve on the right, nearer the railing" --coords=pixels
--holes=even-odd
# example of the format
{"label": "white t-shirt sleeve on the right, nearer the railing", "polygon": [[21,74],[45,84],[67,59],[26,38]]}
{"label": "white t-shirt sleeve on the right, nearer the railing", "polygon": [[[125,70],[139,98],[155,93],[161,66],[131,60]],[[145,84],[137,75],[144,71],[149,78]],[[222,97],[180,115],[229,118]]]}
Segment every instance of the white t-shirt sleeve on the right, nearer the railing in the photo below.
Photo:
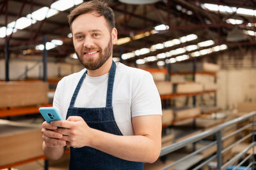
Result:
{"label": "white t-shirt sleeve on the right, nearer the railing", "polygon": [[132,88],[132,117],[162,115],[161,99],[152,75],[143,71],[137,78]]}

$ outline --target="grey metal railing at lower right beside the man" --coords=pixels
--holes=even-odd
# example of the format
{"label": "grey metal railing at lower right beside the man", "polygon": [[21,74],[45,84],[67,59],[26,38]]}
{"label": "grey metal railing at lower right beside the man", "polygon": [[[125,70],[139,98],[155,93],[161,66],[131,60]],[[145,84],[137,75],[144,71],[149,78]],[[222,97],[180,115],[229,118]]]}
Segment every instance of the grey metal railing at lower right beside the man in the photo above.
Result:
{"label": "grey metal railing at lower right beside the man", "polygon": [[[203,162],[201,162],[200,164],[198,164],[196,167],[193,168],[193,170],[195,169],[200,169],[202,167],[204,167],[205,165],[209,164],[209,162],[211,162],[212,160],[216,160],[217,162],[217,169],[218,170],[223,170],[223,169],[227,169],[230,166],[235,166],[233,169],[237,169],[239,166],[241,166],[244,162],[246,162],[247,160],[252,159],[252,161],[250,162],[250,164],[246,167],[246,169],[248,169],[249,167],[252,167],[252,169],[254,169],[254,147],[256,144],[255,138],[253,136],[255,136],[255,132],[254,132],[254,116],[256,115],[256,111],[253,111],[252,113],[248,113],[247,115],[244,115],[243,117],[239,117],[239,118],[235,118],[234,120],[230,120],[228,122],[225,122],[223,124],[220,124],[208,131],[204,131],[200,134],[197,134],[191,138],[188,139],[184,139],[183,141],[177,142],[177,143],[173,143],[172,145],[169,146],[165,146],[162,148],[161,150],[161,154],[160,157],[167,155],[168,153],[172,153],[175,152],[177,150],[179,150],[180,148],[184,148],[185,146],[189,145],[189,144],[193,144],[196,143],[204,138],[207,138],[209,136],[212,135],[216,135],[216,140],[212,141],[211,143],[209,143],[209,145],[204,146],[204,148],[200,148],[199,150],[196,150],[195,152],[189,153],[189,155],[186,155],[185,157],[183,157],[182,159],[177,160],[176,162],[174,162],[173,164],[170,164],[169,166],[164,167],[162,170],[164,169],[169,169],[170,167],[173,167],[177,164],[179,164],[180,162],[189,159],[191,157],[193,157],[194,155],[196,155],[197,153],[203,152],[204,150],[207,150],[208,148],[211,148],[212,146],[216,145],[217,146],[217,150],[216,153],[214,153],[213,155],[211,155],[211,157],[209,157],[208,159],[204,160]],[[252,123],[245,125],[244,127],[241,127],[239,129],[237,129],[236,131],[228,134],[227,136],[223,136],[222,135],[222,131],[223,129],[230,127],[231,125],[235,125],[238,124],[239,122],[243,122],[244,120],[248,120],[249,118],[252,117]],[[243,138],[237,140],[235,143],[233,143],[232,145],[228,146],[227,148],[223,149],[222,147],[222,142],[227,139],[230,138],[231,136],[234,136],[236,134],[238,134],[239,132],[244,131],[244,129],[247,129],[249,127],[252,127],[252,132],[250,132],[250,134],[244,136]],[[250,143],[250,145],[248,145],[247,148],[245,148],[243,150],[243,152],[238,153],[236,156],[232,157],[232,159],[228,160],[225,164],[223,164],[222,162],[222,155],[223,153],[227,152],[228,150],[230,150],[231,148],[233,148],[234,146],[238,145],[239,143],[245,141],[246,139],[252,138],[252,143]],[[244,155],[246,155],[246,152],[248,152],[248,150],[250,150],[252,148],[252,153],[250,155],[248,155],[246,158],[244,158],[241,162],[237,163],[237,161],[239,159],[241,159],[241,157],[244,157]],[[237,165],[234,165],[237,164]]]}

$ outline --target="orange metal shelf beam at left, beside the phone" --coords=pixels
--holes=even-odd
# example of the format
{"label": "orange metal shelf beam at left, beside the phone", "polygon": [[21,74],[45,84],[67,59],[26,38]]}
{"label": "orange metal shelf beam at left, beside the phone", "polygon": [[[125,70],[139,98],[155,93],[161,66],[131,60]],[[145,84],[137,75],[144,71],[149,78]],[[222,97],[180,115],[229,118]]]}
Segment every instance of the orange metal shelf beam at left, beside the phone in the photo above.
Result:
{"label": "orange metal shelf beam at left, beside the phone", "polygon": [[52,104],[42,104],[40,106],[29,106],[20,108],[0,108],[0,117],[12,117],[18,115],[28,115],[33,113],[39,113],[40,107],[51,107]]}

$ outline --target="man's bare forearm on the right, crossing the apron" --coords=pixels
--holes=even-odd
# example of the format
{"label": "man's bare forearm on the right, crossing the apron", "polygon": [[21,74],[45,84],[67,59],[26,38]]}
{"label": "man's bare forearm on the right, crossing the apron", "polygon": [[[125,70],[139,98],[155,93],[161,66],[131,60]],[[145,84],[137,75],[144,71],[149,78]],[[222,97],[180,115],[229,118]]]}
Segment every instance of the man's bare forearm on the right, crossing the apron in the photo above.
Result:
{"label": "man's bare forearm on the right, crossing the apron", "polygon": [[161,150],[161,142],[148,136],[117,136],[96,129],[90,146],[120,159],[149,163],[156,161]]}

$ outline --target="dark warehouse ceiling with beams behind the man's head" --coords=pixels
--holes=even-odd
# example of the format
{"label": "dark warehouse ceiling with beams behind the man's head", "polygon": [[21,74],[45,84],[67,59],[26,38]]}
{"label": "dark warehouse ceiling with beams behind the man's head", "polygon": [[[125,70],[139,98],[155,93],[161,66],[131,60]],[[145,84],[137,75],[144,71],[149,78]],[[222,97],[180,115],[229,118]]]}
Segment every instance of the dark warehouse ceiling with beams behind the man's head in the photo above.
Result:
{"label": "dark warehouse ceiling with beams behind the man's head", "polygon": [[[44,6],[50,7],[54,0],[0,0],[0,29],[7,24],[21,17],[26,17],[29,13],[36,11]],[[202,41],[212,39],[214,45],[207,47],[201,46],[196,50],[190,50],[182,53],[193,58],[191,53],[211,48],[218,45],[227,45],[227,51],[234,48],[244,52],[245,46],[255,46],[255,36],[248,36],[243,31],[255,31],[255,17],[245,15],[234,10],[231,13],[222,11],[211,11],[202,4],[220,4],[223,6],[232,6],[237,9],[248,8],[255,10],[255,0],[233,1],[233,0],[162,0],[153,4],[125,4],[118,0],[106,1],[115,12],[116,28],[118,38],[130,38],[129,43],[115,45],[113,57],[120,57],[120,54],[134,52],[141,48],[150,48],[152,45],[164,43],[168,40],[179,39],[182,36],[196,34],[198,37],[192,41],[184,41],[179,45],[172,45],[167,48],[158,49],[131,57],[123,62],[134,63],[137,59],[143,59],[148,56],[156,56],[159,53],[166,53],[184,46],[196,45]],[[48,55],[58,59],[65,59],[74,53],[72,38],[68,38],[70,33],[67,22],[67,15],[70,9],[59,11],[58,14],[37,21],[24,29],[17,29],[17,32],[0,39],[0,57],[4,57],[4,45],[6,39],[9,40],[9,50],[11,56],[19,57],[20,54],[42,55],[42,51],[36,50],[35,46],[42,44],[43,36],[47,36],[47,41],[52,39],[61,39],[63,45],[56,46],[48,50]],[[237,24],[227,22],[228,18],[241,20]],[[157,25],[168,25],[169,29],[164,31],[152,32]],[[150,32],[151,31],[151,32]],[[136,38],[136,35],[145,33],[144,38]],[[233,34],[234,33],[234,34]],[[239,34],[236,39],[237,34]],[[227,39],[229,38],[229,39]],[[228,41],[227,41],[228,40]],[[220,51],[221,52],[221,51]],[[220,53],[215,52],[215,53]],[[210,59],[215,59],[215,54],[204,55]],[[177,54],[178,55],[178,54]],[[168,58],[177,57],[177,55]],[[211,57],[209,57],[211,56]],[[148,65],[156,65],[156,62],[148,62]]]}

